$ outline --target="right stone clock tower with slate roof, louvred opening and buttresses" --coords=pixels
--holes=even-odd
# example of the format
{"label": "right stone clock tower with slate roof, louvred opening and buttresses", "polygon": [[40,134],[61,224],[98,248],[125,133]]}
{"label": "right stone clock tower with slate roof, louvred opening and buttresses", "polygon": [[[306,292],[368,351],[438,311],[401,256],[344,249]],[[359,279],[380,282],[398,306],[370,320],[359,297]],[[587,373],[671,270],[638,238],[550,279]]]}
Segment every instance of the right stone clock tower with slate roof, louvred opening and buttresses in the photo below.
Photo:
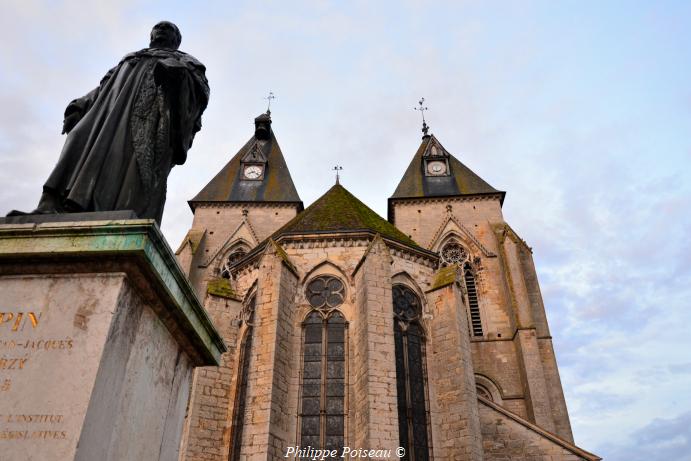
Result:
{"label": "right stone clock tower with slate roof, louvred opening and buttresses", "polygon": [[532,249],[504,221],[504,197],[425,132],[389,221],[460,268],[478,395],[573,442]]}

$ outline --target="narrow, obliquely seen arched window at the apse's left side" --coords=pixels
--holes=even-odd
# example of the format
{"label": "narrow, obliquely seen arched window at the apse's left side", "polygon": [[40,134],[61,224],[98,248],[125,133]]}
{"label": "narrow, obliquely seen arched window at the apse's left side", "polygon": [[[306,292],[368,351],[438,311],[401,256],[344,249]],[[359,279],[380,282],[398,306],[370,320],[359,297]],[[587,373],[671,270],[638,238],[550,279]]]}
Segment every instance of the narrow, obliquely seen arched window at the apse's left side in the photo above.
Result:
{"label": "narrow, obliquely seen arched window at the apse's left side", "polygon": [[240,360],[238,361],[237,368],[238,378],[235,385],[235,409],[233,412],[233,426],[231,427],[230,461],[240,460],[240,450],[242,448],[242,431],[245,426],[245,410],[247,408],[247,381],[252,354],[255,302],[256,297],[253,297],[243,309],[247,329],[240,343]]}

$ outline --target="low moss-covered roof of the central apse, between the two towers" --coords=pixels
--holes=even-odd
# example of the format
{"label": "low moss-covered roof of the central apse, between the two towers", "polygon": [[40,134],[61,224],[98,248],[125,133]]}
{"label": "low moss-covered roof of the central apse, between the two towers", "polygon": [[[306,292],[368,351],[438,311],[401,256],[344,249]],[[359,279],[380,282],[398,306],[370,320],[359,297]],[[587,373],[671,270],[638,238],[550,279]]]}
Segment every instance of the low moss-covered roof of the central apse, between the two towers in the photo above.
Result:
{"label": "low moss-covered roof of the central apse, between the two towers", "polygon": [[418,245],[345,187],[336,184],[302,213],[277,230],[273,238],[285,234],[312,232],[372,231],[407,245]]}

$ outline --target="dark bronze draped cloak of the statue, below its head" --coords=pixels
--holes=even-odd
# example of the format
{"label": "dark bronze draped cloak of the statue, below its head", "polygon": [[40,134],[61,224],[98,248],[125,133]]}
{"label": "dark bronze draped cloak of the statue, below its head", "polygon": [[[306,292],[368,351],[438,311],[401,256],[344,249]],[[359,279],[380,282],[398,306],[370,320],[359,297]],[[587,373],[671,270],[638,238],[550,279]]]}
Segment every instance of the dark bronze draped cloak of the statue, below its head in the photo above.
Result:
{"label": "dark bronze draped cloak of the statue, below its head", "polygon": [[78,112],[44,185],[71,209],[133,210],[159,223],[166,179],[187,158],[209,98],[205,68],[181,51],[125,56],[98,88],[72,101]]}

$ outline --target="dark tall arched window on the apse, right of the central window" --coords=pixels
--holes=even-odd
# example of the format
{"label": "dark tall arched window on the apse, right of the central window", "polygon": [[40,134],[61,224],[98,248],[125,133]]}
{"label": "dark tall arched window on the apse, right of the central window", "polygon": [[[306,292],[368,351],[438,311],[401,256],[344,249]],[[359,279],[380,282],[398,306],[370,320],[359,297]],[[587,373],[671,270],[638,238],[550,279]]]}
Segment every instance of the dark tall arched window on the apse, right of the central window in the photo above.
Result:
{"label": "dark tall arched window on the apse, right of the central window", "polygon": [[427,390],[425,386],[425,339],[420,325],[422,307],[415,292],[403,285],[393,287],[396,391],[399,443],[402,459],[429,459]]}

